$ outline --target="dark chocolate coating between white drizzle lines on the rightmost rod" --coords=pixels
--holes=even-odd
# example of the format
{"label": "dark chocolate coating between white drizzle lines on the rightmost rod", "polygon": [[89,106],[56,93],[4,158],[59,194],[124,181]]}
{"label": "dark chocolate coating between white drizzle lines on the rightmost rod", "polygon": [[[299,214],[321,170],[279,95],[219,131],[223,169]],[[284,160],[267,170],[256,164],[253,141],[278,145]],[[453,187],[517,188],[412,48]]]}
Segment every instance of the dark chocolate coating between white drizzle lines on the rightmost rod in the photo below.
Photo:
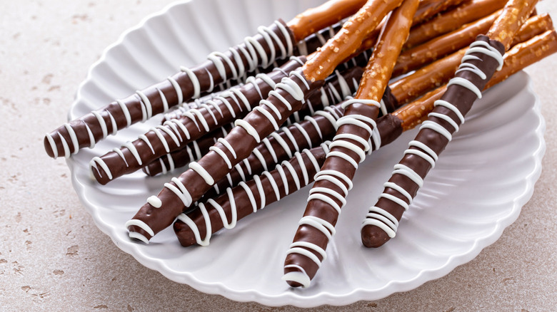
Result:
{"label": "dark chocolate coating between white drizzle lines on the rightmost rod", "polygon": [[[490,46],[496,48],[497,51],[501,53],[501,55],[503,55],[505,51],[504,46],[500,42],[490,40],[487,36],[480,35],[476,38],[476,41],[487,42]],[[476,87],[479,90],[483,90],[488,80],[491,78],[491,76],[493,76],[493,73],[496,71],[498,62],[496,61],[495,58],[491,56],[487,56],[486,54],[483,53],[471,53],[471,55],[476,56],[481,60],[480,61],[468,60],[466,61],[466,63],[471,63],[474,66],[478,66],[478,68],[481,71],[483,71],[483,73],[486,74],[486,79],[482,79],[476,73],[473,73],[471,71],[461,71],[459,73],[456,73],[455,77],[465,78],[466,80],[473,83],[473,85],[476,85]],[[468,113],[468,110],[470,110],[473,102],[476,100],[476,98],[477,98],[476,94],[473,93],[471,90],[468,90],[468,88],[465,88],[461,85],[452,84],[448,86],[446,93],[443,94],[441,100],[446,100],[448,103],[455,105],[458,111],[460,111],[462,115],[466,115],[466,113]],[[455,113],[453,113],[452,110],[444,106],[441,105],[436,106],[433,109],[433,112],[447,115],[457,125],[461,124],[461,120],[458,118],[458,116]],[[428,120],[431,120],[434,123],[438,123],[438,125],[441,125],[444,129],[450,132],[451,135],[453,134],[453,132],[455,132],[453,126],[447,123],[446,120],[434,116],[430,116]],[[416,135],[415,140],[418,142],[422,142],[426,146],[430,147],[433,150],[433,152],[436,153],[436,155],[440,155],[441,152],[443,152],[443,150],[445,149],[446,145],[448,144],[448,139],[445,136],[441,135],[439,132],[435,130],[431,130],[430,128],[421,128],[421,130],[418,132],[418,135]],[[426,154],[428,154],[426,150],[421,150],[421,148],[419,147],[411,146],[409,149],[419,150],[421,152],[425,152]],[[429,170],[431,170],[431,164],[427,160],[425,160],[424,158],[418,155],[406,154],[399,163],[411,168],[411,170],[416,172],[422,179],[425,178]],[[410,180],[408,177],[406,177],[406,175],[401,175],[396,173],[391,176],[388,182],[393,182],[398,186],[402,187],[409,194],[411,194],[412,198],[415,197],[416,193],[418,192],[418,184]],[[408,199],[405,196],[403,196],[403,194],[401,194],[395,189],[392,189],[391,187],[386,187],[383,190],[383,192],[398,197],[399,199],[409,204]],[[386,212],[388,212],[388,214],[391,214],[393,217],[396,217],[398,221],[400,221],[402,214],[404,212],[404,207],[384,197],[380,197],[375,206],[384,209]],[[362,228],[361,237],[364,246],[368,246],[368,247],[381,246],[386,241],[388,241],[388,239],[390,239],[388,234],[386,234],[386,232],[384,232],[383,229],[372,224],[366,224]]]}

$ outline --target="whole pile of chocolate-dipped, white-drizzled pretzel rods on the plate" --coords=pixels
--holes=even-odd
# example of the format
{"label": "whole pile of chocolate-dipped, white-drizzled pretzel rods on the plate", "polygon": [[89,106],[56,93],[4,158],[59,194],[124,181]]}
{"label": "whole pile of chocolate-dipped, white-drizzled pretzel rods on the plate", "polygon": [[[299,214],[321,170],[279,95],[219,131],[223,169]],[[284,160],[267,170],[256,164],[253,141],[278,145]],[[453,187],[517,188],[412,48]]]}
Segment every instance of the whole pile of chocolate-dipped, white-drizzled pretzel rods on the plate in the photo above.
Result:
{"label": "whole pile of chocolate-dipped, white-drizzled pretzel rods on the plate", "polygon": [[100,184],[189,165],[123,224],[145,243],[174,224],[180,244],[206,246],[215,232],[313,183],[283,275],[308,287],[360,162],[419,126],[363,220],[363,245],[378,247],[395,236],[481,91],[557,51],[551,18],[535,4],[330,0],[62,125],[44,147],[71,157],[165,113],[161,125],[90,162]]}

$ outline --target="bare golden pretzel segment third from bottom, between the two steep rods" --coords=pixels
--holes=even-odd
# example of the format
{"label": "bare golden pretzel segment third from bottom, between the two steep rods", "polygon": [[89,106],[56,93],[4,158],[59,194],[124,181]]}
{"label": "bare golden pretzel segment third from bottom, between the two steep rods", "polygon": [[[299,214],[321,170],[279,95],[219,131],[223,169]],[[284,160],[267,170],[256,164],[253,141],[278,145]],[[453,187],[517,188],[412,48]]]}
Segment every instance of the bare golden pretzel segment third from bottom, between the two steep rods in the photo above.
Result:
{"label": "bare golden pretzel segment third from bottom, between the two steep rods", "polygon": [[420,46],[403,51],[398,57],[398,61],[396,61],[393,76],[396,77],[402,73],[413,71],[419,68],[421,64],[431,63],[438,58],[446,56],[448,53],[470,45],[476,39],[476,36],[488,31],[499,14],[501,14],[501,10],[483,19],[464,25],[456,31],[451,31],[450,33],[433,38],[431,41]]}

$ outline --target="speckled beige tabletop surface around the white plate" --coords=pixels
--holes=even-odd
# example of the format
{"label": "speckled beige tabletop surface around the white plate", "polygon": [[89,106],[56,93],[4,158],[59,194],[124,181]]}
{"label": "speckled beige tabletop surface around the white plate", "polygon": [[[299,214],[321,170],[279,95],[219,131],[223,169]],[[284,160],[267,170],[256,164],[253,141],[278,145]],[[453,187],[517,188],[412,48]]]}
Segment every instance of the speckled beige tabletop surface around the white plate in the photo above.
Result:
{"label": "speckled beige tabletop surface around the white plate", "polygon": [[[295,309],[209,296],[141,266],[95,227],[65,161],[43,150],[44,132],[66,121],[76,88],[101,51],[170,2],[1,1],[0,311]],[[557,16],[557,3],[545,0],[538,11]],[[555,310],[556,66],[553,56],[528,68],[543,103],[547,150],[532,199],[501,239],[413,291],[323,311]]]}

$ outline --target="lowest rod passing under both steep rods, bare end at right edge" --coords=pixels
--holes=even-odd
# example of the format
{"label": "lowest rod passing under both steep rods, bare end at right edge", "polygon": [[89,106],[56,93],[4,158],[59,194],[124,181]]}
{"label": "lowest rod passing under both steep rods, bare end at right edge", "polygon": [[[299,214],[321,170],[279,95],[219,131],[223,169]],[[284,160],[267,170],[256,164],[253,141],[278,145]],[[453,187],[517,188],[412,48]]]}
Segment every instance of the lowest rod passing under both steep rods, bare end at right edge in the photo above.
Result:
{"label": "lowest rod passing under both steep rods, bare end at right edge", "polygon": [[[486,89],[489,86],[500,83],[502,80],[505,80],[508,76],[520,71],[522,68],[529,66],[536,61],[540,61],[542,58],[556,52],[556,43],[557,34],[554,31],[547,31],[543,35],[523,43],[521,46],[514,46],[510,51],[508,51],[503,65],[503,70],[497,72],[496,75],[489,80]],[[549,44],[550,48],[543,48],[546,44]],[[543,54],[536,53],[539,49],[543,50]],[[518,60],[524,62],[518,62]],[[501,74],[503,72],[506,72],[506,74]],[[438,90],[444,89],[445,88],[443,86],[443,88]],[[408,123],[409,121],[406,120],[406,118],[413,119],[413,115],[417,115],[418,119],[426,117],[426,115],[433,110],[433,102],[438,98],[441,98],[442,93],[443,92],[428,93],[428,95],[424,95],[422,98],[406,105],[404,108],[396,110],[395,113],[378,118],[376,130],[381,137],[381,146],[393,142],[393,140],[401,134],[403,131],[401,125]],[[424,103],[426,103],[425,109],[423,108]],[[401,111],[408,111],[409,107],[413,107],[413,113],[400,113]],[[416,123],[414,123],[414,125],[416,125]],[[373,145],[373,140],[370,141],[370,144]],[[300,183],[299,187],[296,184],[296,178],[288,179],[288,173],[291,177],[293,177],[292,172],[288,170],[287,166],[282,165],[281,172],[283,172],[283,174],[281,174],[279,170],[274,170],[271,172],[271,175],[259,175],[259,179],[256,178],[249,182],[245,182],[244,185],[231,188],[230,191],[229,189],[226,189],[226,192],[219,197],[214,199],[204,199],[203,204],[199,205],[199,207],[203,207],[202,209],[196,209],[192,212],[181,214],[181,216],[178,217],[174,223],[174,232],[178,237],[180,244],[182,246],[191,246],[193,244],[206,246],[209,244],[211,234],[218,232],[224,227],[226,227],[226,229],[232,229],[236,225],[236,222],[239,222],[242,218],[256,212],[259,209],[263,209],[272,202],[275,202],[277,198],[276,192],[280,194],[280,198],[283,198],[285,194],[286,196],[293,194],[293,192],[296,192],[300,187],[304,187],[313,182],[311,170],[323,164],[324,157],[317,155],[321,155],[322,151],[326,149],[326,145],[321,145],[320,147],[314,147],[309,151],[304,150],[301,153],[296,152],[296,155],[294,155],[291,160],[288,160],[294,168],[294,172],[296,172],[298,177],[297,181]],[[373,146],[371,150],[376,150],[376,147]],[[311,152],[312,155],[316,156],[316,163],[300,161],[304,160],[302,157],[303,153],[309,155],[307,154],[308,152]],[[306,174],[304,174],[304,172],[306,172]],[[284,185],[283,176],[286,177],[285,180],[288,181],[288,193],[286,192],[286,189],[282,192]],[[274,184],[270,182],[271,178],[274,180]],[[265,179],[270,183],[265,181]],[[226,222],[226,225],[224,222]],[[207,230],[208,228],[210,229],[209,231]],[[201,239],[201,237],[204,237],[204,239]]]}

